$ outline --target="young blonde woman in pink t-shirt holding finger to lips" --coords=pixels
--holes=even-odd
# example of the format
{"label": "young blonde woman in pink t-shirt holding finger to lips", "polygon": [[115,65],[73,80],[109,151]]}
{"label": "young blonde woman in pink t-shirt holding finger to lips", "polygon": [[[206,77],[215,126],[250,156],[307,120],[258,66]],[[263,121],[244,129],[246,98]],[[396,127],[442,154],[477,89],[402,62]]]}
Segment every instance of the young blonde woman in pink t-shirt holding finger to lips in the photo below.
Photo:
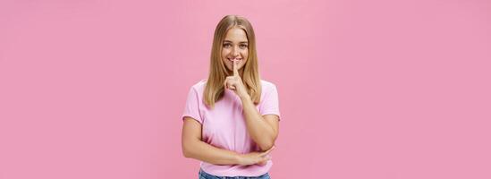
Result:
{"label": "young blonde woman in pink t-shirt holding finger to lips", "polygon": [[190,88],[182,119],[182,152],[202,161],[200,179],[269,178],[278,93],[259,78],[254,30],[245,18],[218,22],[209,76]]}

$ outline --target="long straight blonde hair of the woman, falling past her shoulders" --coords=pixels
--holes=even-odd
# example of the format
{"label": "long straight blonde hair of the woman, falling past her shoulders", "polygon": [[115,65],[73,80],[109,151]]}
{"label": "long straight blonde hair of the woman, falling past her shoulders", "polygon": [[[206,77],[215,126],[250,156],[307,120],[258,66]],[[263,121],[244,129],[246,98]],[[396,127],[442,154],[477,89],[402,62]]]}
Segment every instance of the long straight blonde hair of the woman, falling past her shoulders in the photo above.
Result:
{"label": "long straight blonde hair of the woman, falling past her shoulders", "polygon": [[224,80],[231,75],[226,70],[222,61],[222,47],[224,38],[228,30],[240,28],[246,32],[249,41],[249,55],[243,67],[242,82],[248,90],[250,98],[254,104],[258,104],[261,98],[261,82],[258,70],[258,55],[256,52],[256,37],[252,25],[247,19],[236,16],[226,15],[218,25],[216,25],[215,36],[211,48],[211,58],[207,86],[204,91],[204,102],[207,107],[213,108],[217,100],[224,96]]}

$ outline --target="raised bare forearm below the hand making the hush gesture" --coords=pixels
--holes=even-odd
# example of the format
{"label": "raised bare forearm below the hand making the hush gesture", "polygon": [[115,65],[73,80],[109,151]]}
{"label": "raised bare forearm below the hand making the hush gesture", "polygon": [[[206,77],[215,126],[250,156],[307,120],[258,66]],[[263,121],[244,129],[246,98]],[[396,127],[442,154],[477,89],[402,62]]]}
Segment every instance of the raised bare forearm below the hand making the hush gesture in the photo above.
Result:
{"label": "raised bare forearm below the hand making the hush gesture", "polygon": [[275,145],[274,129],[259,114],[258,109],[249,96],[241,98],[241,101],[250,138],[258,144],[261,150],[270,149]]}

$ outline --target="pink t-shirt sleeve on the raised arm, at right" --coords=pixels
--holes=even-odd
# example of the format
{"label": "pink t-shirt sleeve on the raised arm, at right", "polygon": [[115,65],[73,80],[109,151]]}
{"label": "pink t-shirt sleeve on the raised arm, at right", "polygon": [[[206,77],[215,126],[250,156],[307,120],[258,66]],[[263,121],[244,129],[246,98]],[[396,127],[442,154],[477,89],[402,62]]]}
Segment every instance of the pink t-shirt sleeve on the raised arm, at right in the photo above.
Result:
{"label": "pink t-shirt sleeve on the raised arm, at right", "polygon": [[266,91],[264,97],[261,100],[262,105],[259,108],[259,112],[261,115],[278,115],[278,118],[281,118],[278,101],[278,91],[276,90],[275,85],[273,85]]}

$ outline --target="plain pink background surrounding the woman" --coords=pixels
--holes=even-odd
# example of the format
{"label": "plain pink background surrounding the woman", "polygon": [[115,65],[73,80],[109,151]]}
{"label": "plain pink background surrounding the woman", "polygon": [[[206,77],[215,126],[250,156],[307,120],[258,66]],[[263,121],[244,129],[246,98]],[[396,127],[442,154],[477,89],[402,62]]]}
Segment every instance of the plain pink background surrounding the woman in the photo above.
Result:
{"label": "plain pink background surrounding the woman", "polygon": [[225,14],[280,93],[273,178],[491,178],[487,0],[0,1],[0,179],[198,178],[190,85]]}

